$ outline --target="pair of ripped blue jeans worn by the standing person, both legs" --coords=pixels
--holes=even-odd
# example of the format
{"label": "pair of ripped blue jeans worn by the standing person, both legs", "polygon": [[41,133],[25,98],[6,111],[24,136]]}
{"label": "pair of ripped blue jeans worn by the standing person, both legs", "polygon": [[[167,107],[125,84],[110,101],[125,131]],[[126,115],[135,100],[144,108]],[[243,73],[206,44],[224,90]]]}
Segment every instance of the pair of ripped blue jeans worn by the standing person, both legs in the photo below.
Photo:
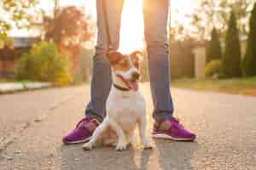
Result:
{"label": "pair of ripped blue jeans worn by the standing person, both legs", "polygon": [[[108,0],[108,23],[112,48],[119,48],[119,29],[122,0]],[[93,74],[90,86],[91,99],[85,115],[102,121],[106,115],[105,103],[111,88],[111,70],[106,58],[108,42],[102,16],[102,0],[96,0],[97,44],[93,58]],[[169,0],[144,0],[144,35],[147,42],[150,89],[154,103],[155,121],[172,117],[173,104],[170,92],[170,65],[167,41],[167,20]]]}

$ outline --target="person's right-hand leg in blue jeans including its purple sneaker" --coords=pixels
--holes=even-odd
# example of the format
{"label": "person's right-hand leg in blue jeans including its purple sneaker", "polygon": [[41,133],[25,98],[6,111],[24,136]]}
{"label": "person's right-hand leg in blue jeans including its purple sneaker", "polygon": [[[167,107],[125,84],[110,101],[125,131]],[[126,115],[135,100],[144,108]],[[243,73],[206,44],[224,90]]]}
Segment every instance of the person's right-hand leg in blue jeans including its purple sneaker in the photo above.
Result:
{"label": "person's right-hand leg in blue jeans including its purple sneaker", "polygon": [[192,141],[195,133],[173,117],[170,92],[170,64],[167,42],[169,0],[144,0],[145,39],[148,71],[154,102],[154,138]]}

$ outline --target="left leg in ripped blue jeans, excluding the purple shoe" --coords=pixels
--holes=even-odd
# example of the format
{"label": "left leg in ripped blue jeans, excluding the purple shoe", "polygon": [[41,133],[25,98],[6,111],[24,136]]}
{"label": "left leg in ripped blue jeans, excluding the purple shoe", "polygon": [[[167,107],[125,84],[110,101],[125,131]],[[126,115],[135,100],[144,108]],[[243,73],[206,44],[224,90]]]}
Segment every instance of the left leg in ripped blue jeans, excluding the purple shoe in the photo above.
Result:
{"label": "left leg in ripped blue jeans, excluding the purple shoe", "polygon": [[[123,8],[122,0],[106,1],[108,9],[108,25],[112,41],[112,49],[119,48],[119,29],[121,23],[121,13]],[[85,115],[96,118],[102,122],[105,113],[105,103],[111,88],[111,70],[106,57],[108,50],[107,33],[105,20],[102,12],[102,0],[96,1],[97,8],[97,44],[96,55],[93,58],[92,82],[90,85],[90,102],[85,109]]]}

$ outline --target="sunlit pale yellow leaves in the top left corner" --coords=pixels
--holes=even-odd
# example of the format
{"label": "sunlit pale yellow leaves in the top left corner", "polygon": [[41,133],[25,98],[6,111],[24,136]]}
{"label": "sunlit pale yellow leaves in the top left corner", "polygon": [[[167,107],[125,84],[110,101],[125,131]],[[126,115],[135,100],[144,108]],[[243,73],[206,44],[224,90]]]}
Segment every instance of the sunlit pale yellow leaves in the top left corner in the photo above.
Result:
{"label": "sunlit pale yellow leaves in the top left corner", "polygon": [[[3,0],[0,2],[0,34],[6,34],[12,29],[13,22],[17,28],[31,26],[36,13],[38,0]],[[32,13],[32,11],[34,13]]]}

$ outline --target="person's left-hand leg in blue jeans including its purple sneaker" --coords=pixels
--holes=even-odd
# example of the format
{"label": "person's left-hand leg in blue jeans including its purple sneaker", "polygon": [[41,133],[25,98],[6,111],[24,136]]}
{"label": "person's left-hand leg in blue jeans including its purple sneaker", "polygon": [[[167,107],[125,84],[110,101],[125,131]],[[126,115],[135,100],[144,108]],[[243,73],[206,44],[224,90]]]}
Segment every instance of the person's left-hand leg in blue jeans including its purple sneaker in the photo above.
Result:
{"label": "person's left-hand leg in blue jeans including its purple sneaker", "polygon": [[[111,46],[113,50],[116,50],[119,48],[119,28],[123,1],[105,1],[108,8],[108,24],[112,41]],[[108,42],[102,9],[102,0],[96,0],[98,33],[96,54],[93,57],[92,82],[90,85],[91,99],[85,109],[85,118],[78,123],[73,131],[62,139],[64,144],[78,144],[88,141],[99,125],[99,122],[102,122],[105,116],[105,102],[108,98],[112,79],[110,66],[106,57]]]}

